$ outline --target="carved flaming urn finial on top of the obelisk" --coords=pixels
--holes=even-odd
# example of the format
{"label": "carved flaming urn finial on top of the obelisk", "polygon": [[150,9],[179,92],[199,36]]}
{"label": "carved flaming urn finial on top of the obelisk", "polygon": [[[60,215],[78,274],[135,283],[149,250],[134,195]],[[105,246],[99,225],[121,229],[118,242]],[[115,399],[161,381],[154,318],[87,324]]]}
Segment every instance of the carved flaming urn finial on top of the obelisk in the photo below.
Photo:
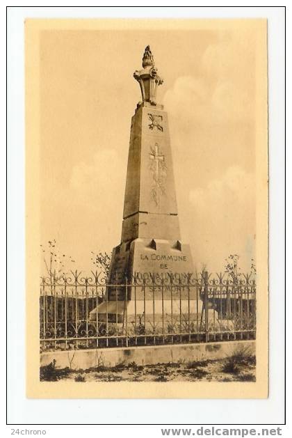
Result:
{"label": "carved flaming urn finial on top of the obelisk", "polygon": [[143,102],[156,105],[157,87],[163,84],[163,79],[158,75],[154,64],[154,58],[149,45],[145,48],[142,60],[142,70],[136,70],[133,77],[139,82]]}

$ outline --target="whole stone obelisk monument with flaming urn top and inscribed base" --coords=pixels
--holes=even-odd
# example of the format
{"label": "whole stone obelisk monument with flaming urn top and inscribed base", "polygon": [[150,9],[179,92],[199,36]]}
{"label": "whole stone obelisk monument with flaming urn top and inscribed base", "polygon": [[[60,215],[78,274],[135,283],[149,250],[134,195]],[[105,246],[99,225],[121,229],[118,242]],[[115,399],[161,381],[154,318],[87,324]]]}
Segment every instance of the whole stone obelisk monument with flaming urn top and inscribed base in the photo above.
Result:
{"label": "whole stone obelisk monument with flaming urn top and inscribed base", "polygon": [[202,300],[190,287],[195,263],[181,241],[168,114],[157,102],[163,79],[149,46],[133,77],[142,101],[131,120],[122,237],[111,257],[106,301],[90,319],[124,323],[143,315],[146,326],[168,314],[195,320]]}

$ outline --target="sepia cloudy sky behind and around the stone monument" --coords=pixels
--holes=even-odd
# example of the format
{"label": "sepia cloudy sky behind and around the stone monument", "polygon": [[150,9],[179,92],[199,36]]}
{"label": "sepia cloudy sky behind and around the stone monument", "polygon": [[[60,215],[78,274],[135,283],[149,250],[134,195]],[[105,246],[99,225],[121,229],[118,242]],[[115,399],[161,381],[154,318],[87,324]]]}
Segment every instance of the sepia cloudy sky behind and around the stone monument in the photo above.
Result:
{"label": "sepia cloudy sky behind and around the stone monument", "polygon": [[[256,238],[254,33],[46,30],[40,36],[41,240],[89,271],[120,243],[133,79],[150,45],[164,84],[182,241],[212,272],[249,270]],[[72,265],[72,258],[74,265]]]}

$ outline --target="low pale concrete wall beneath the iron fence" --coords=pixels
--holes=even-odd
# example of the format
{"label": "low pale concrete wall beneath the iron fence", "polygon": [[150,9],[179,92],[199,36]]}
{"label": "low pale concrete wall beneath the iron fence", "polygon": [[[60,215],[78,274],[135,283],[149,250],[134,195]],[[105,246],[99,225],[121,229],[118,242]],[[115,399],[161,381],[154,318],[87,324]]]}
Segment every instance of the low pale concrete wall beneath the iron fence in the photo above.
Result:
{"label": "low pale concrete wall beneath the iron fence", "polygon": [[127,365],[136,362],[137,365],[154,363],[172,363],[179,361],[201,361],[205,359],[224,359],[234,352],[248,348],[250,354],[255,354],[255,341],[225,341],[200,344],[161,345],[159,347],[124,347],[100,348],[95,350],[67,350],[43,352],[40,355],[40,365],[48,365],[54,359],[57,368],[71,366],[74,370],[96,367],[115,366],[117,363]]}

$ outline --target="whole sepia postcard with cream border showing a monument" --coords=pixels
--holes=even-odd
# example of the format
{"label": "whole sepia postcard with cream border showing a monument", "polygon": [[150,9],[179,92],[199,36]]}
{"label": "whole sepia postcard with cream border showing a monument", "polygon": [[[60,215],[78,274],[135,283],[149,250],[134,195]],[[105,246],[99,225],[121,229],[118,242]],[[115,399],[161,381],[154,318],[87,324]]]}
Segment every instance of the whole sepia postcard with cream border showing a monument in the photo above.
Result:
{"label": "whole sepia postcard with cream border showing a monument", "polygon": [[27,19],[30,398],[268,396],[265,19]]}

